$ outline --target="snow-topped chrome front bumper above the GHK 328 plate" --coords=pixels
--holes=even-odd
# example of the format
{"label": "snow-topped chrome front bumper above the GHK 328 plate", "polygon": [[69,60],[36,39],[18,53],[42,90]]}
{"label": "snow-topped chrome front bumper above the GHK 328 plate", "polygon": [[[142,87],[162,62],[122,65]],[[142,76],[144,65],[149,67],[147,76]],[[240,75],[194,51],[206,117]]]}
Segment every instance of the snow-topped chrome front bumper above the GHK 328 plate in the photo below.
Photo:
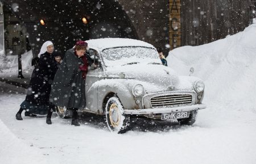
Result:
{"label": "snow-topped chrome front bumper above the GHK 328 plate", "polygon": [[158,113],[172,113],[172,112],[187,112],[195,111],[206,108],[205,104],[195,104],[192,106],[181,106],[173,108],[149,108],[141,110],[125,110],[124,113],[127,115],[146,115],[146,114],[158,114]]}

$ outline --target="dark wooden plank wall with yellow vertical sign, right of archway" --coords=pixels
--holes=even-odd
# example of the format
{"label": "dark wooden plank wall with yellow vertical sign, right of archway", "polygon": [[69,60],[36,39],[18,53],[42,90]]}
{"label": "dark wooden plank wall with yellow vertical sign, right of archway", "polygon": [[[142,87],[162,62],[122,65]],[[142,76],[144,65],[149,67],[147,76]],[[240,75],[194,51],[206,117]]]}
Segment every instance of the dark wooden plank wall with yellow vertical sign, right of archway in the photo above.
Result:
{"label": "dark wooden plank wall with yellow vertical sign, right of archway", "polygon": [[[255,0],[118,0],[139,39],[165,49],[201,45],[249,26]],[[255,6],[254,6],[255,7]]]}

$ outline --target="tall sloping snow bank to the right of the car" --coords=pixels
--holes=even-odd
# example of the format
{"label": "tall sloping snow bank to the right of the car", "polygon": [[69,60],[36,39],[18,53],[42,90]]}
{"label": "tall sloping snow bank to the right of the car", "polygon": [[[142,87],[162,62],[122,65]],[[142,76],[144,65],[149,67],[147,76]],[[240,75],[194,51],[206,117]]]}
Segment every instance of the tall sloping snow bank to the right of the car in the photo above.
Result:
{"label": "tall sloping snow bank to the right of the car", "polygon": [[[195,75],[205,81],[204,103],[225,111],[256,112],[256,24],[243,32],[197,47],[170,51],[168,65],[178,74]],[[220,111],[218,111],[220,112]]]}

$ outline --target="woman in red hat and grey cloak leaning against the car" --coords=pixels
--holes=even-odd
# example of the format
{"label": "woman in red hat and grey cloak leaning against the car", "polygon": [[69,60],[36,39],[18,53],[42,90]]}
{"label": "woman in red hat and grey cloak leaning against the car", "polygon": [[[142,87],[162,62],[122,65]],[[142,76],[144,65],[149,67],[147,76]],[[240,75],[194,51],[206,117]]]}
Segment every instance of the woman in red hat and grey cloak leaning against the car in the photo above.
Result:
{"label": "woman in red hat and grey cloak leaning against the car", "polygon": [[[77,110],[85,108],[85,77],[88,66],[93,60],[84,54],[88,44],[79,40],[75,48],[69,49],[60,64],[52,83],[50,101],[55,106],[66,107],[73,110],[72,125],[79,126]],[[52,111],[49,111],[52,112]],[[51,124],[51,114],[47,116],[47,124]]]}

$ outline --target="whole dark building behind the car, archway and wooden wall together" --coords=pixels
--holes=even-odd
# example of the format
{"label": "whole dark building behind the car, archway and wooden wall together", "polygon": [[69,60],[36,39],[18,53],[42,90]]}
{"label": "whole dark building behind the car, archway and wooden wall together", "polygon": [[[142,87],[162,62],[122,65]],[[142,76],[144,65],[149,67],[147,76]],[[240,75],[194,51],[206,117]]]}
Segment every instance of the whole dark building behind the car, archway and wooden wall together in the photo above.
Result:
{"label": "whole dark building behind the car, archway and wooden wall together", "polygon": [[[9,9],[20,2],[0,1]],[[52,41],[63,52],[72,47],[76,39],[129,37],[163,48],[164,54],[168,54],[170,48],[201,45],[242,31],[250,22],[251,1],[44,0],[42,5],[39,1],[27,0],[19,4],[14,14],[26,25],[35,55],[52,36],[56,37]],[[89,15],[91,21],[82,24],[79,18],[82,15]],[[47,26],[41,26],[40,19],[45,19]]]}

